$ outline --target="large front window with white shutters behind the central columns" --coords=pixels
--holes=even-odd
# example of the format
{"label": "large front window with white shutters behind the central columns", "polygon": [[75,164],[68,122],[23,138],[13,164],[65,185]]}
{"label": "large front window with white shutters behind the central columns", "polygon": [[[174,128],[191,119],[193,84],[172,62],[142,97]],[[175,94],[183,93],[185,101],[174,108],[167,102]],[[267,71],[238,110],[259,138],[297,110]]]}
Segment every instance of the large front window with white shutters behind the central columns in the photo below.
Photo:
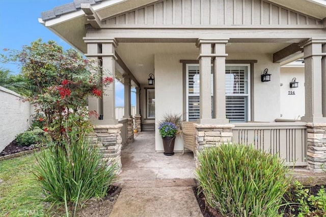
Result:
{"label": "large front window with white shutters behind the central columns", "polygon": [[[250,111],[249,64],[227,64],[225,70],[226,115],[230,122],[247,122]],[[213,75],[211,76],[211,78]],[[199,118],[199,64],[186,65],[187,120]],[[211,79],[211,87],[213,81]],[[211,90],[211,93],[213,91]]]}

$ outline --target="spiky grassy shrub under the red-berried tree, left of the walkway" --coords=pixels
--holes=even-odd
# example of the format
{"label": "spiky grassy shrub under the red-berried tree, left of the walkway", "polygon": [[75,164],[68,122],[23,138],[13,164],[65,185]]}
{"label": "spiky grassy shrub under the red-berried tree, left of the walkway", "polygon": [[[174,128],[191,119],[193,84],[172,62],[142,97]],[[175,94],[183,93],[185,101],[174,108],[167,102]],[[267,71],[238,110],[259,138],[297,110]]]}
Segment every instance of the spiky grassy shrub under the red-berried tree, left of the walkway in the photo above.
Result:
{"label": "spiky grassy shrub under the red-berried tree, left of the walkway", "polygon": [[98,148],[86,136],[71,133],[71,145],[50,145],[36,157],[34,174],[45,190],[46,201],[85,201],[102,198],[116,177],[115,165],[101,165]]}

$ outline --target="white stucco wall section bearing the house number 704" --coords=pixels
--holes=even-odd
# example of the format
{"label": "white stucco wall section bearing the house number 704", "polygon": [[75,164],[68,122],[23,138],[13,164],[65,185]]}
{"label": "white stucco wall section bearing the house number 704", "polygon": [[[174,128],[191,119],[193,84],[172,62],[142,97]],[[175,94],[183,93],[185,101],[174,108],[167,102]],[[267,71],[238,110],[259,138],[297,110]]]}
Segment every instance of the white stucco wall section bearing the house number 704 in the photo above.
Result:
{"label": "white stucco wall section bearing the house number 704", "polygon": [[[296,78],[297,88],[290,88],[292,78]],[[305,116],[305,68],[281,67],[281,118],[300,119]],[[289,95],[289,91],[295,95]]]}

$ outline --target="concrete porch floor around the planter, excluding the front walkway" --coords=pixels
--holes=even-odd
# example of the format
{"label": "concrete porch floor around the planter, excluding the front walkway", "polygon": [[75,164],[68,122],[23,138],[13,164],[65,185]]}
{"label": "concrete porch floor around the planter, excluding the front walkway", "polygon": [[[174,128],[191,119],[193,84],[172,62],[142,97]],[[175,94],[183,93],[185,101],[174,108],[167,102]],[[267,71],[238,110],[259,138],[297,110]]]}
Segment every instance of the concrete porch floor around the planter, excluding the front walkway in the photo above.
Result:
{"label": "concrete porch floor around the planter, excluding the front walkway", "polygon": [[165,156],[155,151],[154,132],[139,132],[134,142],[121,150],[122,180],[193,179],[195,178],[194,154],[187,151]]}

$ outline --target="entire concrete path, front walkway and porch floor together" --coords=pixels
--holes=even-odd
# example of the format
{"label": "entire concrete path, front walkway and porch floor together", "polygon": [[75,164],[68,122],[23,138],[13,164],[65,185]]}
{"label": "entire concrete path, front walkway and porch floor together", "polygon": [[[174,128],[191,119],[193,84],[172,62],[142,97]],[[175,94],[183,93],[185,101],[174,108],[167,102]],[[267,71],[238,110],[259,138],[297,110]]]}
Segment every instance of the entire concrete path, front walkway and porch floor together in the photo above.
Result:
{"label": "entire concrete path, front walkway and porch floor together", "polygon": [[192,152],[155,152],[154,132],[141,132],[122,148],[121,193],[110,214],[121,216],[203,216],[193,193]]}

